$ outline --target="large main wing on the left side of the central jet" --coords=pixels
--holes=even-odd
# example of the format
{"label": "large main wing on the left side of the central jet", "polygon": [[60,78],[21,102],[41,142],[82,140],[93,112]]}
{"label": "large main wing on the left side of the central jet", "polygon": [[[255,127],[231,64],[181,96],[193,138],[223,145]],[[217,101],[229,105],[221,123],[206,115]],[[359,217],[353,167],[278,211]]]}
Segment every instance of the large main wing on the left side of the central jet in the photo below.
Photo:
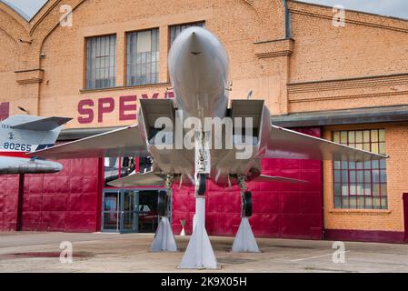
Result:
{"label": "large main wing on the left side of the central jet", "polygon": [[50,159],[104,156],[148,156],[137,125],[115,129],[28,154]]}

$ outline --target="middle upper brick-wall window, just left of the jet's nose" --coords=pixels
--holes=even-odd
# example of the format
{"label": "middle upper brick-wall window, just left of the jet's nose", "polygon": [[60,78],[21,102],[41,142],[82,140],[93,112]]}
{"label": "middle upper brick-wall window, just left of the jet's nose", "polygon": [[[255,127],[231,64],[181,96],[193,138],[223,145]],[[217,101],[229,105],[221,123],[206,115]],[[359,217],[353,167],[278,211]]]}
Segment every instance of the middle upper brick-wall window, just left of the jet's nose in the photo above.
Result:
{"label": "middle upper brick-wall window, just left of the jet's nose", "polygon": [[127,34],[127,85],[159,82],[159,29]]}

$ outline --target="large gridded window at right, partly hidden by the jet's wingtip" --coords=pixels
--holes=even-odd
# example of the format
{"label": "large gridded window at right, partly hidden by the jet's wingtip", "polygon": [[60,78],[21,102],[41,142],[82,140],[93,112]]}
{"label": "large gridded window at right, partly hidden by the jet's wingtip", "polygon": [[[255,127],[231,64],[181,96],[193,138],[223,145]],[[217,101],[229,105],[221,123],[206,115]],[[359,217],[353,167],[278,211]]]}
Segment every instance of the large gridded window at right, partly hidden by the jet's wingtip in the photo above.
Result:
{"label": "large gridded window at right, partly hidden by the jet's wingtip", "polygon": [[[385,130],[334,131],[333,141],[385,155]],[[334,208],[387,209],[385,160],[333,162]]]}

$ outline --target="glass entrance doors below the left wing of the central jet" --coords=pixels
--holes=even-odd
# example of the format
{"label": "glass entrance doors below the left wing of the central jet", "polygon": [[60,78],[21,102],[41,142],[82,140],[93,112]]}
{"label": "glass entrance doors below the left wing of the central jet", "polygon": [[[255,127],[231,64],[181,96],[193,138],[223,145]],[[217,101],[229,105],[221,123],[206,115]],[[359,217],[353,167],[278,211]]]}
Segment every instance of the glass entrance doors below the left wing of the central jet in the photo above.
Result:
{"label": "glass entrance doors below the left wing of the central jet", "polygon": [[138,193],[134,190],[104,190],[102,230],[138,232]]}

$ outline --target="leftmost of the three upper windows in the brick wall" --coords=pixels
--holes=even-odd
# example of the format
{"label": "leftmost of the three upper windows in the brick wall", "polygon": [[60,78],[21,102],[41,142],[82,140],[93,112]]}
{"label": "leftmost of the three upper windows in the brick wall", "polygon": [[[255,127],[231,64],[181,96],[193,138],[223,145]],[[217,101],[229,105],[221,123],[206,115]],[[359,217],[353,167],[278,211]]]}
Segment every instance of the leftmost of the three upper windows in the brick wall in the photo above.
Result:
{"label": "leftmost of the three upper windows in the brick wall", "polygon": [[116,85],[116,35],[86,38],[86,88]]}

